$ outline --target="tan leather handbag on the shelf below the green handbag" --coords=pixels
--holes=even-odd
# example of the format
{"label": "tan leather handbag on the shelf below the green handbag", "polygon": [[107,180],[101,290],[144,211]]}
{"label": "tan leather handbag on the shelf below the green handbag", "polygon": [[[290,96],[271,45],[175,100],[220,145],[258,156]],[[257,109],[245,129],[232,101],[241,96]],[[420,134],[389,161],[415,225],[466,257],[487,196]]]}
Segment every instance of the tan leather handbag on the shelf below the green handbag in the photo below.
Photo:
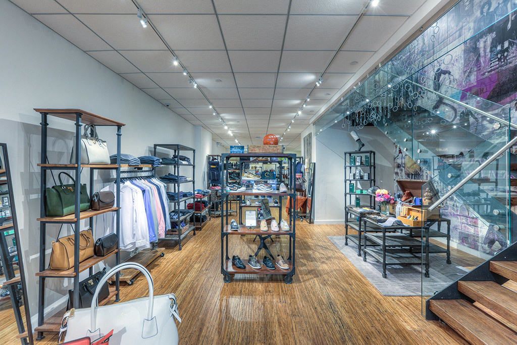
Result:
{"label": "tan leather handbag on the shelf below the green handbag", "polygon": [[[58,238],[52,242],[52,252],[50,253],[51,269],[70,269],[74,262],[74,236]],[[94,236],[92,229],[88,228],[79,233],[79,262],[94,256]]]}

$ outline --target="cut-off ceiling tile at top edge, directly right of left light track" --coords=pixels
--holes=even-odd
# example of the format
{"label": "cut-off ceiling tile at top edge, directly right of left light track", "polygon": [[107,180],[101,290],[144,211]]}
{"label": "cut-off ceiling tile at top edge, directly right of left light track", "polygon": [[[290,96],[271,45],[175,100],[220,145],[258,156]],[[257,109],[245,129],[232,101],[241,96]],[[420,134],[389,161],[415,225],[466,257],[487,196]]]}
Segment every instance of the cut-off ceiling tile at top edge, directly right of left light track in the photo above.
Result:
{"label": "cut-off ceiling tile at top edge, directly right of left light track", "polygon": [[214,13],[210,0],[139,0],[145,13]]}

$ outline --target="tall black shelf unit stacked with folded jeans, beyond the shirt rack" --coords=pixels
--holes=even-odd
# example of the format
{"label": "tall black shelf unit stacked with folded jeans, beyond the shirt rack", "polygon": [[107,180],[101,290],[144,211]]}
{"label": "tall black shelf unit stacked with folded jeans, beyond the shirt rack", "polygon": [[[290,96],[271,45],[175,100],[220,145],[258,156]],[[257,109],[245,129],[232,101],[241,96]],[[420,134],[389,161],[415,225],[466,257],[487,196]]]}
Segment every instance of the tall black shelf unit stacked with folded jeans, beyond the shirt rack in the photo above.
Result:
{"label": "tall black shelf unit stacked with folded jeans, beyond the shirt rack", "polygon": [[[158,154],[158,148],[168,149],[173,152],[173,155],[177,155],[176,157],[178,158],[176,160],[175,164],[162,164],[162,166],[165,166],[165,167],[169,166],[169,167],[173,168],[172,173],[174,175],[178,176],[177,181],[175,181],[175,182],[167,182],[167,181],[163,181],[163,180],[160,180],[160,181],[169,185],[170,188],[172,189],[170,191],[172,191],[174,193],[179,193],[179,191],[181,190],[180,188],[182,186],[191,186],[192,187],[192,189],[191,189],[192,196],[191,197],[185,197],[185,198],[181,198],[181,199],[178,199],[175,201],[169,200],[169,206],[170,206],[169,215],[171,214],[171,212],[176,213],[176,219],[173,219],[171,216],[171,223],[175,223],[177,226],[177,229],[171,229],[165,233],[165,237],[159,238],[159,239],[167,239],[170,241],[177,241],[178,250],[181,250],[181,241],[183,241],[183,239],[185,237],[187,237],[187,235],[191,231],[194,233],[194,235],[195,235],[195,231],[196,231],[195,217],[194,217],[194,221],[192,224],[188,223],[188,224],[186,224],[186,227],[184,227],[184,228],[181,228],[181,225],[180,225],[182,221],[188,220],[190,218],[190,216],[192,216],[194,214],[194,210],[192,210],[192,212],[185,214],[183,216],[180,215],[180,213],[179,213],[179,210],[181,209],[181,207],[180,207],[181,203],[183,203],[183,206],[184,206],[183,208],[186,209],[187,203],[189,201],[193,202],[193,200],[195,198],[194,197],[194,195],[195,195],[195,178],[194,178],[194,176],[195,176],[195,148],[188,147],[188,146],[181,145],[181,144],[154,144],[153,156],[155,156],[155,157],[157,157],[156,155]],[[179,156],[182,153],[185,153],[185,154],[192,153],[192,158],[190,160],[191,164],[181,164],[179,162]],[[171,155],[171,157],[172,157],[172,155]],[[160,167],[157,167],[157,168],[160,168]],[[188,179],[186,181],[179,181],[180,173],[183,171],[183,169],[180,169],[180,168],[187,168],[187,169],[192,168],[192,178]],[[156,168],[155,168],[155,174],[156,174]],[[190,185],[190,184],[192,184],[192,185]]]}

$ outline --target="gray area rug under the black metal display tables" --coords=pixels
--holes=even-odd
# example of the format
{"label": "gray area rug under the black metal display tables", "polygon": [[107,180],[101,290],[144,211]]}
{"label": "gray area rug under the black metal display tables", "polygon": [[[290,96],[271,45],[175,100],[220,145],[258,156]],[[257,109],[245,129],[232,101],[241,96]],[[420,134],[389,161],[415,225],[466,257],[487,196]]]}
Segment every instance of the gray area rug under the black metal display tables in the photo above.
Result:
{"label": "gray area rug under the black metal display tables", "polygon": [[[373,286],[385,296],[420,296],[422,293],[422,267],[421,265],[389,265],[386,268],[388,278],[382,277],[383,264],[374,258],[367,257],[367,262],[362,261],[362,256],[357,256],[357,245],[348,241],[345,246],[345,236],[327,236],[354,266],[359,269]],[[429,278],[423,278],[424,296],[432,296],[435,291],[440,291],[450,283],[461,278],[465,273],[463,267],[445,263],[445,254],[429,254],[431,267]]]}

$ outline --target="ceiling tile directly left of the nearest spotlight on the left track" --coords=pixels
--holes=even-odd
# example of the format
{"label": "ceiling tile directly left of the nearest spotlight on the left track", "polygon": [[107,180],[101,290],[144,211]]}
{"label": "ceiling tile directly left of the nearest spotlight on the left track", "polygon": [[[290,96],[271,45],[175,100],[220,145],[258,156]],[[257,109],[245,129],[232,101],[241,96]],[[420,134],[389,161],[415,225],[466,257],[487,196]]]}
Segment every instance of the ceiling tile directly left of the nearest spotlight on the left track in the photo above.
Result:
{"label": "ceiling tile directly left of the nearest spotlight on the left track", "polygon": [[119,49],[165,49],[158,35],[148,26],[143,28],[134,14],[78,14],[77,18]]}

